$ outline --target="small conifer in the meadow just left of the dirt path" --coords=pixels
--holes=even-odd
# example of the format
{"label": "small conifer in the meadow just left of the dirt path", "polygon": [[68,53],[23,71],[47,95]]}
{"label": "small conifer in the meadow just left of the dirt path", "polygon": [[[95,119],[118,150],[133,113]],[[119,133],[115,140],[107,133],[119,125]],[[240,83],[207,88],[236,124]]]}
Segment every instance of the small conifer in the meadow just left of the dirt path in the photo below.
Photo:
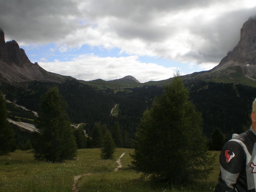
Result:
{"label": "small conifer in the meadow just left of the dirt path", "polygon": [[103,137],[103,148],[101,148],[101,158],[102,159],[112,159],[115,152],[115,142],[107,130]]}

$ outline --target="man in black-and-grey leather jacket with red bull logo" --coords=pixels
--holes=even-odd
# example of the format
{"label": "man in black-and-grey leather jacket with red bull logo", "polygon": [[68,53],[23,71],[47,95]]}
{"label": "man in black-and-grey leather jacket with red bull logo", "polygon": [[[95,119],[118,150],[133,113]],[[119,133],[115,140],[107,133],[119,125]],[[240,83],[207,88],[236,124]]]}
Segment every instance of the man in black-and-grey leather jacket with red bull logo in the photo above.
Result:
{"label": "man in black-and-grey leather jacket with red bull logo", "polygon": [[249,130],[234,135],[219,155],[220,174],[215,192],[255,192],[256,189],[256,99]]}

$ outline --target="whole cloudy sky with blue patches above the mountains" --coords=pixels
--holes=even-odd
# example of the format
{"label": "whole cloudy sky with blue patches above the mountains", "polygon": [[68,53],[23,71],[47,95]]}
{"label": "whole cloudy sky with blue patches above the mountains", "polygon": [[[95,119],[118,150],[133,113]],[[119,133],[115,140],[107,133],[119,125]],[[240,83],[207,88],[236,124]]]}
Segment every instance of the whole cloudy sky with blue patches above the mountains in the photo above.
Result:
{"label": "whole cloudy sky with blue patches above the mountains", "polygon": [[210,70],[255,15],[255,0],[0,0],[6,41],[45,70],[84,81]]}

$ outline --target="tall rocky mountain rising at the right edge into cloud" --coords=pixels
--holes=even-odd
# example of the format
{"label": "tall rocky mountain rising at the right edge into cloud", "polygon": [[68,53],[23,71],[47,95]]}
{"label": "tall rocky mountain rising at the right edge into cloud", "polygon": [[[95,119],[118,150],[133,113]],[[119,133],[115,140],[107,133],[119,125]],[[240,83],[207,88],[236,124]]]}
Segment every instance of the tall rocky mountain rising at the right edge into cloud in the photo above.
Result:
{"label": "tall rocky mountain rising at the right edge into cloud", "polygon": [[209,81],[218,79],[225,79],[226,82],[244,82],[248,79],[256,81],[256,17],[250,17],[243,24],[238,44],[220,61],[219,65],[209,71],[188,77]]}

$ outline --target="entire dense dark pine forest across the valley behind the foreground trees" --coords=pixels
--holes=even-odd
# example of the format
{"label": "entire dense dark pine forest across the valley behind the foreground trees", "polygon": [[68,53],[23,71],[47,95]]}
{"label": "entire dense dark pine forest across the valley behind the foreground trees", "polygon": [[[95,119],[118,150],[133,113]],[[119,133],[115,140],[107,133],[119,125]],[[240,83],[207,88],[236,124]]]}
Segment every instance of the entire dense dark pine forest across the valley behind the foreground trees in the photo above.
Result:
{"label": "entire dense dark pine forest across the valley behind the foreground trees", "polygon": [[[215,83],[205,81],[185,82],[189,90],[189,99],[195,104],[203,117],[203,131],[208,138],[212,132],[220,128],[227,138],[232,133],[241,133],[250,125],[249,114],[251,104],[256,97],[256,88],[242,84]],[[151,107],[155,97],[164,91],[164,85],[150,85],[135,88],[98,89],[82,84],[76,80],[68,80],[58,84],[52,82],[32,81],[16,87],[2,83],[0,91],[10,101],[26,108],[38,111],[41,95],[47,89],[57,87],[68,104],[67,113],[72,123],[84,122],[90,135],[95,122],[107,125],[112,132],[118,122],[123,137],[135,138],[136,128],[142,113]],[[119,104],[118,115],[112,116],[111,109]],[[7,105],[10,115],[33,118],[30,112],[13,109]]]}

